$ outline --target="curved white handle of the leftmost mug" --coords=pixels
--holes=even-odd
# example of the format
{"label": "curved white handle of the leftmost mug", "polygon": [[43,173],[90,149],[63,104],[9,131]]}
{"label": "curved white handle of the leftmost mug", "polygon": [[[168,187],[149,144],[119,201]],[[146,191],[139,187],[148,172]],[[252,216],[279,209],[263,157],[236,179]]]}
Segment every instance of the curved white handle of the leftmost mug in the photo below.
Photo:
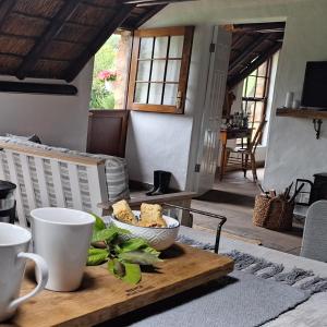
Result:
{"label": "curved white handle of the leftmost mug", "polygon": [[40,257],[39,255],[34,254],[34,253],[21,252],[17,254],[17,257],[32,259],[35,263],[35,268],[37,269],[38,275],[39,275],[39,281],[38,281],[36,288],[32,292],[12,301],[9,304],[10,311],[16,310],[20,304],[22,304],[23,302],[27,301],[28,299],[35,296],[37,293],[39,293],[45,288],[46,283],[48,282],[48,277],[49,277],[48,265],[45,262],[45,259],[43,257]]}

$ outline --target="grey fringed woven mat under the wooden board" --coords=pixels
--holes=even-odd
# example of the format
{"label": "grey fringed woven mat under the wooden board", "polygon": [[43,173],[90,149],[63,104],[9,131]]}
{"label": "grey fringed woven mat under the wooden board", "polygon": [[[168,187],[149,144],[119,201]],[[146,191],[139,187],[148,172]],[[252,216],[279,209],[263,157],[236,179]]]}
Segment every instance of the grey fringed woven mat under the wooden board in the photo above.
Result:
{"label": "grey fringed woven mat under the wooden board", "polygon": [[[211,244],[180,237],[180,242],[210,249]],[[327,290],[327,280],[311,271],[283,266],[233,251],[235,270],[227,277],[110,320],[112,326],[253,327],[277,318]],[[102,326],[108,326],[102,324]]]}

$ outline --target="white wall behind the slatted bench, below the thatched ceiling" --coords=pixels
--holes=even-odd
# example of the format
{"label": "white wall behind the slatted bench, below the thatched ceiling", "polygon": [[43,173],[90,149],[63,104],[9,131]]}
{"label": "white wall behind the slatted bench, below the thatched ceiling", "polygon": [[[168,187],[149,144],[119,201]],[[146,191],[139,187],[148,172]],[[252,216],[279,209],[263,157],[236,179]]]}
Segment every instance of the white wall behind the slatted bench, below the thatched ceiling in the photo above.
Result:
{"label": "white wall behind the slatted bench, below the thatched ceiling", "polygon": [[0,135],[35,133],[45,144],[85,150],[92,71],[90,62],[72,83],[78,88],[76,96],[0,93]]}

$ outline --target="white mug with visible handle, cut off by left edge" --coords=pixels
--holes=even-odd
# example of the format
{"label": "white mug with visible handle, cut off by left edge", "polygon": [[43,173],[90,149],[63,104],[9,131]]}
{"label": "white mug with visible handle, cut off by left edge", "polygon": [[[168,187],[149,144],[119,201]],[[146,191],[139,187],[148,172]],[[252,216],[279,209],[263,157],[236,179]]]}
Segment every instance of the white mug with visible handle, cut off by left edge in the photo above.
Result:
{"label": "white mug with visible handle, cut off by left edge", "polygon": [[[27,253],[31,239],[26,229],[0,222],[0,322],[10,318],[20,304],[36,295],[47,283],[46,262],[36,254]],[[32,292],[19,298],[26,259],[35,262],[39,281]]]}

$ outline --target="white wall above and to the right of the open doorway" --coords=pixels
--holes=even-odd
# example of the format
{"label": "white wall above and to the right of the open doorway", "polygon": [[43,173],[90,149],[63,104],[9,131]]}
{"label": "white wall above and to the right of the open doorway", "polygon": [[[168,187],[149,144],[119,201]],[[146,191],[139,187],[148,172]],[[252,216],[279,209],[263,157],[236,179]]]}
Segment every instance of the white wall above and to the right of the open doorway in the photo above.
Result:
{"label": "white wall above and to the right of the open doorway", "polygon": [[[199,0],[170,4],[148,23],[148,26],[157,27],[198,27],[204,24],[287,21],[271,106],[265,178],[265,184],[276,189],[283,187],[295,177],[307,178],[313,172],[327,170],[327,126],[323,124],[322,140],[316,141],[311,120],[275,117],[275,109],[283,105],[287,90],[293,90],[300,97],[305,62],[327,60],[326,16],[326,0]],[[198,48],[193,52],[205,51],[206,48]],[[196,109],[202,110],[201,107]],[[196,140],[198,132],[199,129],[193,129],[192,140]],[[193,177],[194,158],[191,153],[187,180]]]}

